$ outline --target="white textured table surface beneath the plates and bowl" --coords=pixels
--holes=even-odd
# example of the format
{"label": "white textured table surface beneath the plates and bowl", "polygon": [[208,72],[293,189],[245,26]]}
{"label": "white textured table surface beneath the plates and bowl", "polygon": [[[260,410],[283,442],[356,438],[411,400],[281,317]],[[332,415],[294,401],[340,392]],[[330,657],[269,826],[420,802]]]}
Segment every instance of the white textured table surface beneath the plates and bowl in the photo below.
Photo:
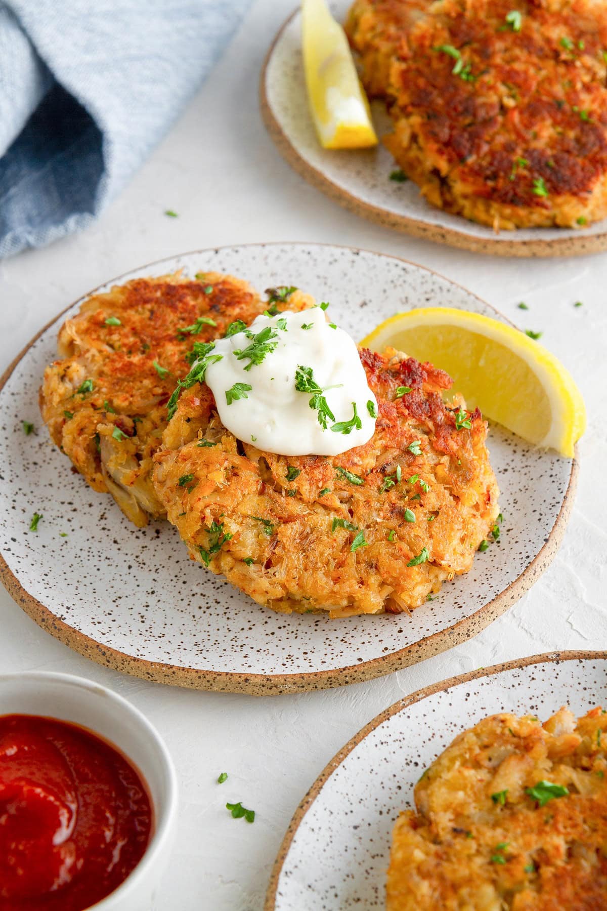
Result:
{"label": "white textured table surface beneath the plates and bowl", "polygon": [[[182,804],[172,865],[153,911],[257,911],[300,798],[339,747],[403,695],[453,674],[541,651],[607,647],[607,254],[490,259],[410,240],[358,220],[288,168],[258,114],[258,72],[293,0],[258,0],[186,114],[122,197],[85,234],[0,263],[0,366],[56,312],[143,263],[247,241],[324,241],[394,253],[466,285],[572,371],[589,412],[561,550],[536,586],[488,630],[390,677],[343,690],[256,700],[179,691],[98,667],[52,639],[0,590],[0,672],[62,670],[133,701],[167,739]],[[177,219],[167,218],[167,209]],[[517,302],[530,310],[516,309]],[[574,308],[573,303],[583,306]],[[219,787],[218,773],[229,773]],[[227,800],[254,808],[232,819]],[[306,911],[306,909],[302,909]]]}

